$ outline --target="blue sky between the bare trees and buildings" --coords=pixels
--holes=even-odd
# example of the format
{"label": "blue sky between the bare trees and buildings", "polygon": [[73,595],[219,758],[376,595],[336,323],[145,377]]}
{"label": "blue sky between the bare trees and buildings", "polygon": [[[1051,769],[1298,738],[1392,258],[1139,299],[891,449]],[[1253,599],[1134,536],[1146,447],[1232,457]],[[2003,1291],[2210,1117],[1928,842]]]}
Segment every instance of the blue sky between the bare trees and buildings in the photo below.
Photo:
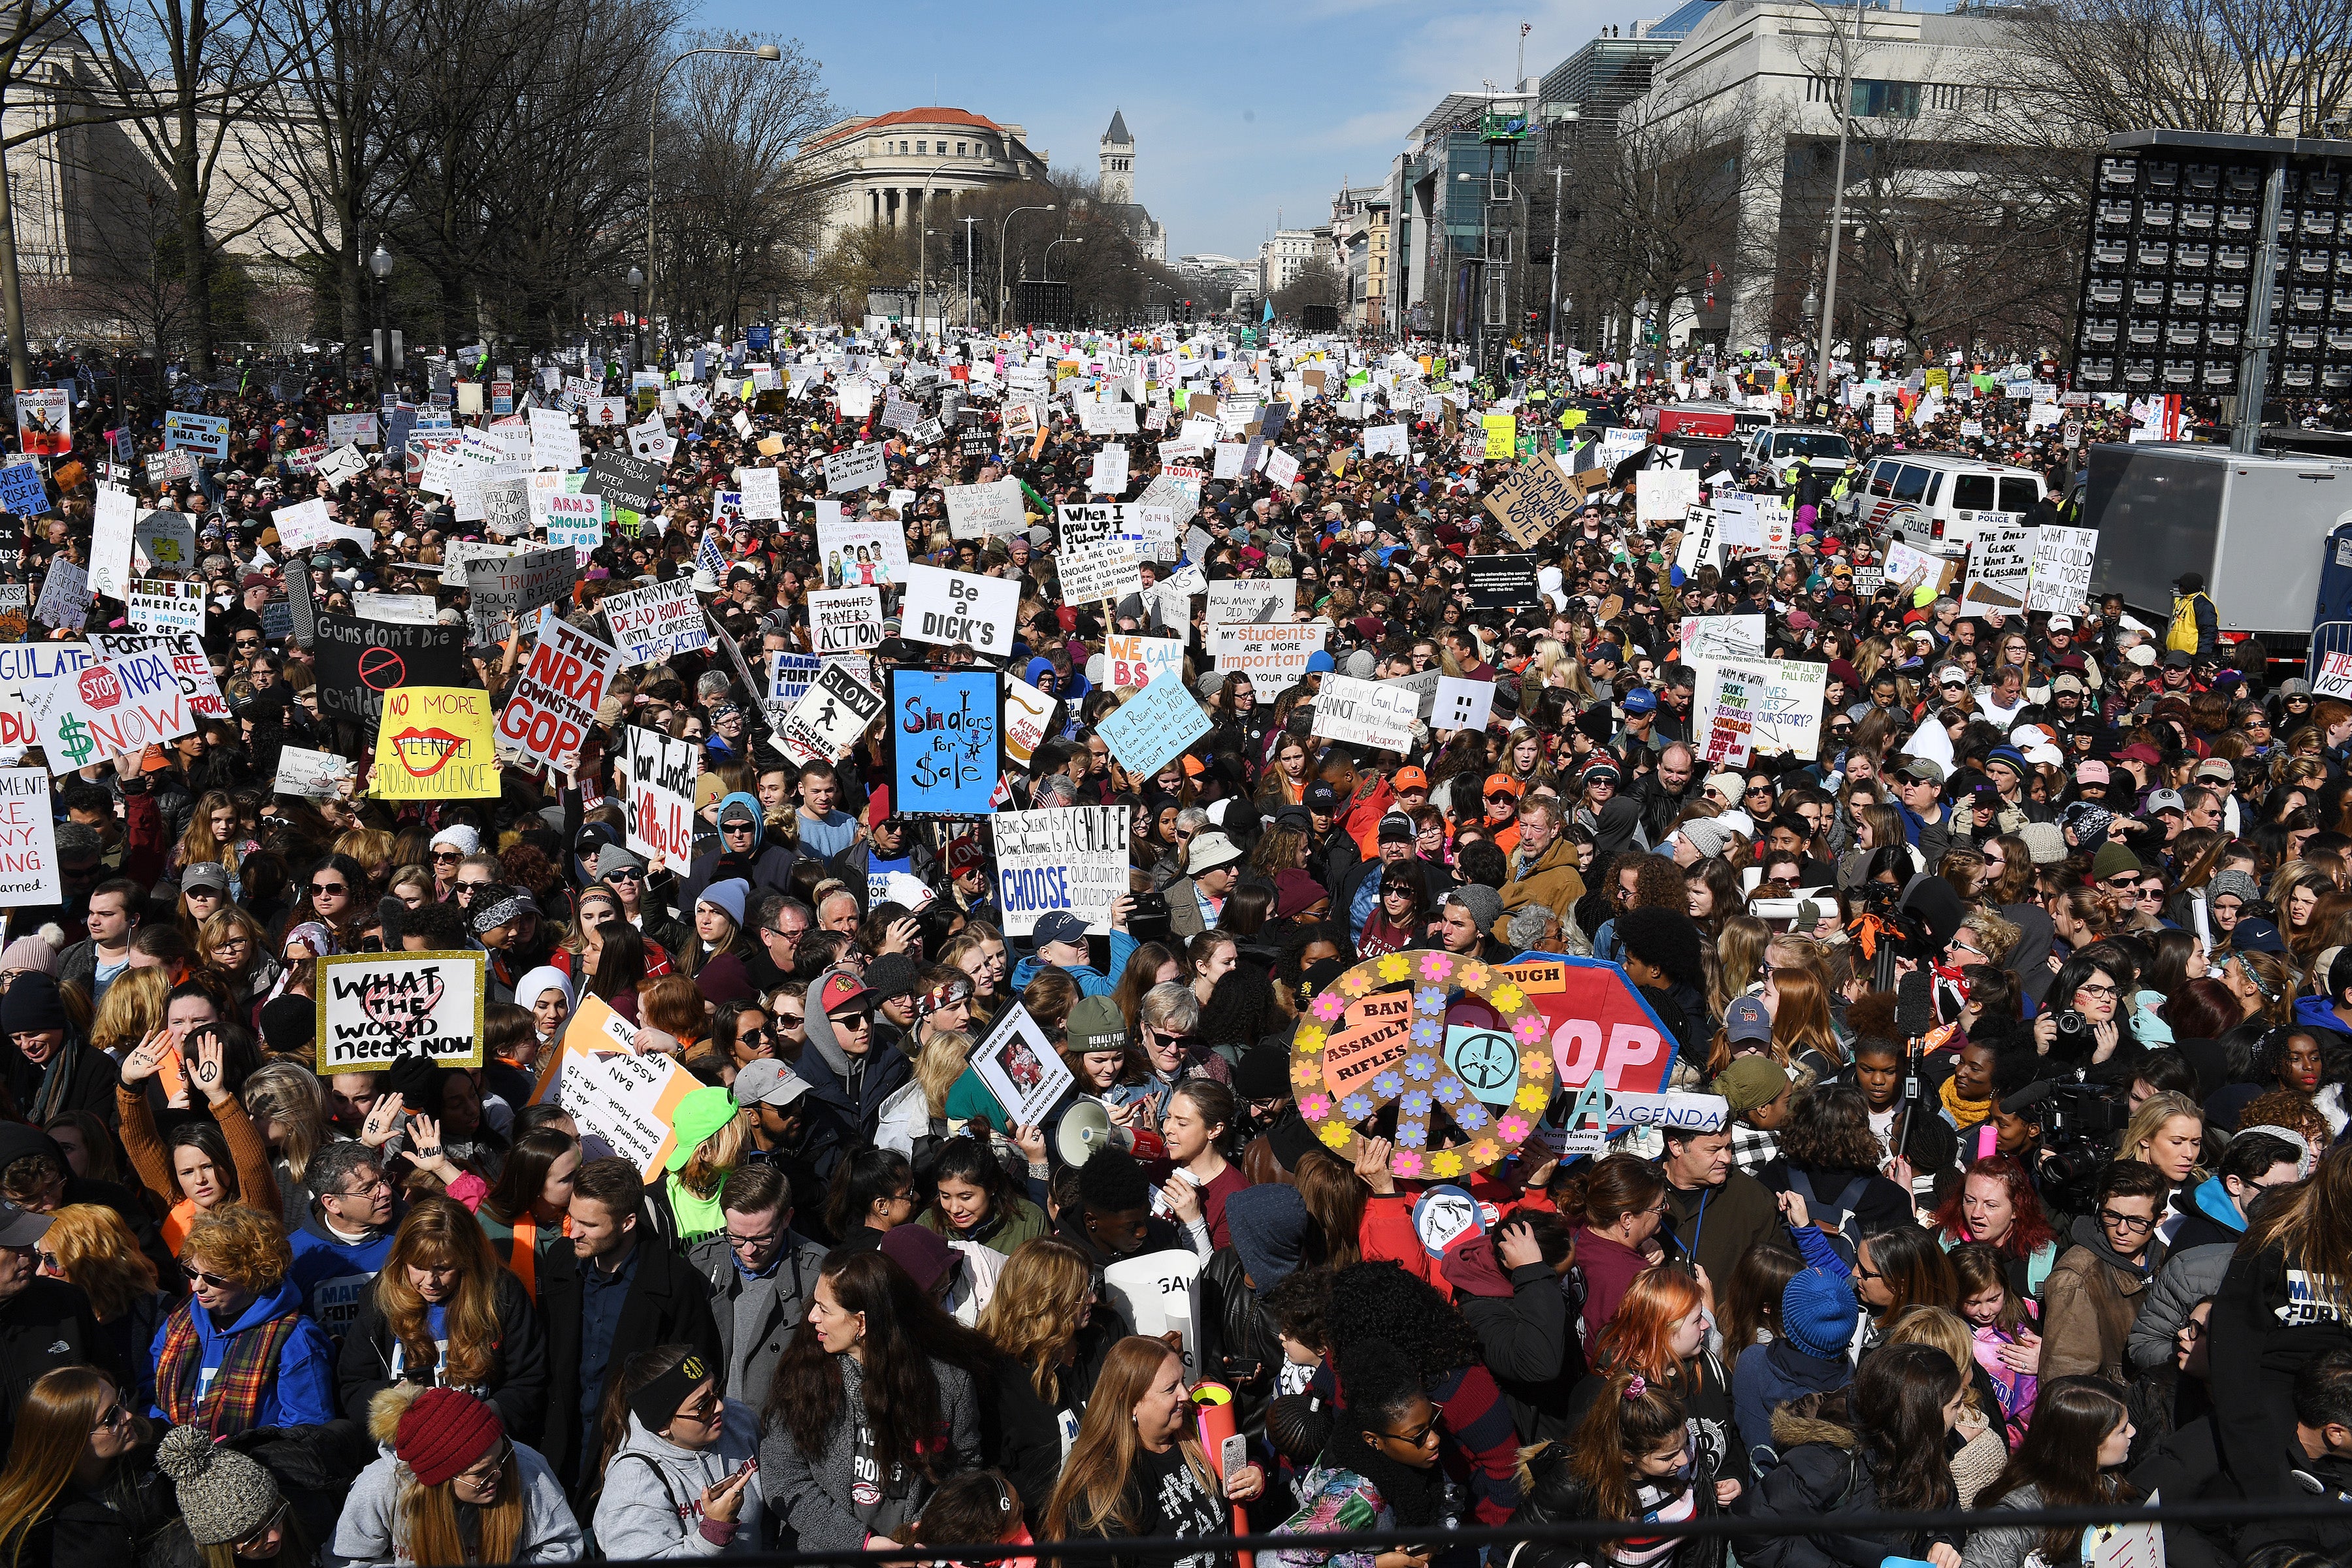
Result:
{"label": "blue sky between the bare trees and buildings", "polygon": [[1256,256],[1275,216],[1331,214],[1341,181],[1374,183],[1446,92],[1508,85],[1526,35],[1543,75],[1602,26],[1630,31],[1670,0],[1195,0],[1176,7],[826,5],[703,0],[696,24],[800,38],[849,113],[953,103],[1028,129],[1054,167],[1094,172],[1110,110],[1136,136],[1136,200],[1169,259]]}

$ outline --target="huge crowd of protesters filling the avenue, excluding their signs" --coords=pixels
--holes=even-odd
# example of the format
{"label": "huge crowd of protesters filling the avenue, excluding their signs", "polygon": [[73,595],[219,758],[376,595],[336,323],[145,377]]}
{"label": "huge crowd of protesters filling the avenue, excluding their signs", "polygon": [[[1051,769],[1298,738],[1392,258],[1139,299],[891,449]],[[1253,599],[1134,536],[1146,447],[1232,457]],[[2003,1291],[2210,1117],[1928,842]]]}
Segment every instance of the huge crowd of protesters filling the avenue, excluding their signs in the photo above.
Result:
{"label": "huge crowd of protesters filling the avenue, excluding their signs", "polygon": [[[1105,621],[1063,602],[1054,508],[1089,501],[1105,442],[1148,484],[1183,414],[1084,435],[1040,397],[1009,442],[997,383],[1011,357],[1094,393],[1117,353],[1160,404],[1178,346],[894,348],[797,334],[776,362],[830,378],[750,404],[729,378],[708,418],[673,414],[661,515],[595,548],[560,611],[593,630],[609,592],[694,576],[753,668],[807,651],[821,458],[887,440],[891,494],[851,512],[903,527],[908,559],[1018,581],[1021,614],[988,658],[887,609],[875,675],[995,668],[1056,698],[1000,802],[1129,806],[1108,940],[1068,912],[1009,938],[985,820],[894,811],[889,719],[793,764],[717,646],[626,670],[572,776],[273,792],[285,748],[365,780],[372,743],[273,630],[285,574],[327,611],[435,592],[466,625],[430,569],[480,524],[402,454],[299,473],[360,407],[325,383],[214,397],[228,458],[148,501],[195,522],[228,712],[56,780],[64,900],[7,910],[0,945],[0,1559],[1110,1537],[1214,1568],[1188,1542],[1247,1526],[1301,1537],[1261,1554],[1277,1568],[1461,1568],[1456,1528],[1599,1521],[1623,1533],[1496,1552],[2063,1568],[2079,1530],[2002,1512],[2352,1502],[2352,705],[2223,639],[2199,581],[2143,616],[1964,616],[1945,581],[1882,578],[1851,475],[1722,461],[1708,489],[1785,498],[1792,545],[1684,571],[1679,529],[1637,522],[1672,461],[1651,449],[1534,545],[1534,595],[1482,604],[1465,559],[1512,550],[1482,510],[1508,463],[1461,456],[1456,421],[1512,397],[1573,451],[1670,388],[1211,331],[1183,346],[1195,390],[1376,371],[1348,390],[1399,407],[1411,451],[1364,456],[1341,400],[1296,402],[1296,482],[1209,480],[1181,557]],[[964,393],[955,428],[837,411],[837,381],[894,367]],[[1423,416],[1423,378],[1461,407]],[[2065,496],[2053,430],[1999,397],[1969,414],[1971,444]],[[1860,451],[1950,418],[1835,411]],[[760,463],[786,520],[715,520]],[[955,538],[941,487],[1000,477],[1028,527]],[[369,550],[287,559],[270,512],[318,494]],[[52,562],[87,564],[92,491],[24,534],[38,597]],[[1298,682],[1216,668],[1197,585],[1228,578],[1296,581],[1324,628]],[[122,614],[99,599],[89,628]],[[1684,616],[1762,616],[1769,656],[1828,665],[1816,755],[1705,759]],[[1152,776],[1101,733],[1134,698],[1112,632],[1178,639],[1209,719]],[[503,696],[517,642],[468,654]],[[1406,750],[1315,733],[1327,677],[1430,670],[1494,682],[1491,722]],[[630,849],[626,726],[701,748],[682,863]],[[910,886],[891,875],[922,893],[882,896]],[[487,954],[482,1067],[313,1070],[320,959],[452,950]],[[1479,1222],[1428,1244],[1395,1117],[1334,1143],[1294,1079],[1310,1004],[1416,950],[1616,964],[1672,1037],[1670,1091],[1724,1121],[1571,1159],[1529,1140],[1470,1182]],[[699,1084],[652,1171],[550,1072],[590,999]],[[1011,1006],[1073,1074],[1040,1124],[969,1065]],[[1077,1103],[1134,1138],[1073,1164]],[[1138,1335],[1105,1269],[1164,1251],[1197,1260],[1192,1319]],[[1204,1441],[1195,1385],[1240,1443]],[[1922,1526],[1844,1523],[1884,1509]],[[1656,1533],[1684,1519],[1729,1533]],[[1312,1542],[1369,1528],[1392,1544]],[[2176,1563],[2345,1549],[2352,1512],[2166,1528]]]}

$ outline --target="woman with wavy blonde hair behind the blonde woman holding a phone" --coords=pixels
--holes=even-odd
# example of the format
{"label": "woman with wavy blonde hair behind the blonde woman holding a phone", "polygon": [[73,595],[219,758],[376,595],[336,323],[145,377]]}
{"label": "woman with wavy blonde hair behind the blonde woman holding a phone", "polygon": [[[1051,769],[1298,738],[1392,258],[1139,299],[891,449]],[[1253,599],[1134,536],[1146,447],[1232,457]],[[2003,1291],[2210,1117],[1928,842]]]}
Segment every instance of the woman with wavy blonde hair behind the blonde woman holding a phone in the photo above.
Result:
{"label": "woman with wavy blonde hair behind the blonde woman holding a phone", "polygon": [[1077,1408],[1077,1380],[1094,1335],[1094,1267],[1068,1241],[1023,1241],[997,1274],[978,1331],[1000,1352],[995,1462],[1030,1514],[1042,1514],[1061,1474],[1061,1432]]}

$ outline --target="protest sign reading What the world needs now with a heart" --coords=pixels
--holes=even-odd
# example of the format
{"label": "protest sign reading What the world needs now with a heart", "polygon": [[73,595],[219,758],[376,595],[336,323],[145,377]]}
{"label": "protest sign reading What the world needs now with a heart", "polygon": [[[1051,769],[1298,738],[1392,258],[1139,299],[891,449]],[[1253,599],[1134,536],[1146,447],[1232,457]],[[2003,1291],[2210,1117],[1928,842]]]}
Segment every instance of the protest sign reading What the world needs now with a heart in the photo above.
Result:
{"label": "protest sign reading What the world needs now with a heart", "polygon": [[318,1074],[383,1072],[402,1056],[482,1065],[485,952],[336,952],[318,961]]}

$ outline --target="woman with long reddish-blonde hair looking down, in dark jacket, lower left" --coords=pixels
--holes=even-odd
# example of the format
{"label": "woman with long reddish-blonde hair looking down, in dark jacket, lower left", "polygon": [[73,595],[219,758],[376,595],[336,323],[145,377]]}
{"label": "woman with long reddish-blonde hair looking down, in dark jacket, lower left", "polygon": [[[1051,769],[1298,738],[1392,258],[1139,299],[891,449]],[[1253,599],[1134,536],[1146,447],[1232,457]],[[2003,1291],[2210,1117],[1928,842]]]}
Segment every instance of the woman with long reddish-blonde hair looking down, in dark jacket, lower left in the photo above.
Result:
{"label": "woman with long reddish-blonde hair looking down, in dark jacket, lower left", "polygon": [[[522,1281],[452,1197],[416,1197],[341,1356],[341,1406],[355,1422],[397,1382],[468,1389],[515,1432],[546,1413],[548,1363]],[[567,1394],[569,1396],[569,1394]]]}

